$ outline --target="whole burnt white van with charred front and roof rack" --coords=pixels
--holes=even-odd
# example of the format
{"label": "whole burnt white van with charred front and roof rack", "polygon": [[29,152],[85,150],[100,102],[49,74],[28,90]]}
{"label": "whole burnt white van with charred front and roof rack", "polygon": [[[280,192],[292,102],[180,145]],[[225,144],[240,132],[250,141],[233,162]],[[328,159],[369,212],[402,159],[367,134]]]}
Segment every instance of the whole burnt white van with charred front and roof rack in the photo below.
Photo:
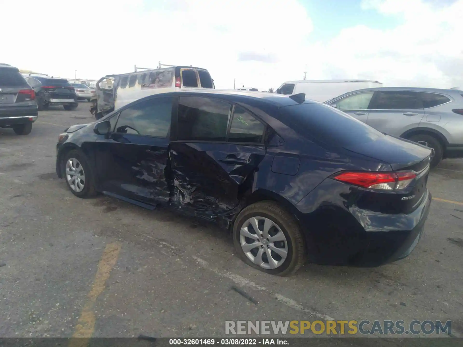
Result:
{"label": "whole burnt white van with charred front and roof rack", "polygon": [[145,96],[188,89],[215,89],[204,68],[174,66],[102,77],[91,99],[90,112],[100,119]]}

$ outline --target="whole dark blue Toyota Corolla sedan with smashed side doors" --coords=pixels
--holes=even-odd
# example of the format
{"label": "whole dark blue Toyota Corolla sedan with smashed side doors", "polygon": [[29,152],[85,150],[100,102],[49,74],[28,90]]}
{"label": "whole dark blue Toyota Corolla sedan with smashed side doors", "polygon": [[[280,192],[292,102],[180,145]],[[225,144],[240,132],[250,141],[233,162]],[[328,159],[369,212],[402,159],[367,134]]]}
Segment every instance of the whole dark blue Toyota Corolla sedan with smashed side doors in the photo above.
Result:
{"label": "whole dark blue Toyota Corolla sedan with smashed side doors", "polygon": [[410,254],[431,203],[430,156],[304,94],[198,90],[70,127],[56,173],[81,198],[219,223],[247,264],[288,275],[306,259],[379,266]]}

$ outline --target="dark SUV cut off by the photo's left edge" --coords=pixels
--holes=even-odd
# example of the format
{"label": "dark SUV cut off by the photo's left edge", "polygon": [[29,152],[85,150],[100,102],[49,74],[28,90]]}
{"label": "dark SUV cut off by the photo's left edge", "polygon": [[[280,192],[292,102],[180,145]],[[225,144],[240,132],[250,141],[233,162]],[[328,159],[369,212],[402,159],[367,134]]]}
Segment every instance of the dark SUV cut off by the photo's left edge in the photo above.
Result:
{"label": "dark SUV cut off by the photo's left edge", "polygon": [[12,128],[18,135],[27,135],[37,115],[35,92],[19,69],[0,64],[0,128]]}

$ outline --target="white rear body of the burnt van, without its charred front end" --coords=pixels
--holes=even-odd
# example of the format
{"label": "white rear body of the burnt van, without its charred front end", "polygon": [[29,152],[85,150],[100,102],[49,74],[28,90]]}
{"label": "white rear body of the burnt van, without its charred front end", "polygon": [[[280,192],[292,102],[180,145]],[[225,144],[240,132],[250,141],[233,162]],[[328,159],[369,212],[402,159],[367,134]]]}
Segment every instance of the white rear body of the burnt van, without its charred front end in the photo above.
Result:
{"label": "white rear body of the burnt van, without its charred front end", "polygon": [[145,96],[188,89],[215,89],[204,68],[174,66],[114,76],[114,109]]}

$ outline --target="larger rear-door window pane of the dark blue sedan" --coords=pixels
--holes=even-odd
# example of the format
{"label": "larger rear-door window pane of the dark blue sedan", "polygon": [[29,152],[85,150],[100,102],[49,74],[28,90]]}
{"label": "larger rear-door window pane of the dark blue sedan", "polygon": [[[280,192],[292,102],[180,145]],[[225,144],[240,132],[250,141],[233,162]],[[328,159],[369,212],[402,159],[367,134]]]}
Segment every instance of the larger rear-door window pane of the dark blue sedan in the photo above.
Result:
{"label": "larger rear-door window pane of the dark blue sedan", "polygon": [[231,107],[220,100],[181,96],[178,104],[178,139],[225,141]]}

